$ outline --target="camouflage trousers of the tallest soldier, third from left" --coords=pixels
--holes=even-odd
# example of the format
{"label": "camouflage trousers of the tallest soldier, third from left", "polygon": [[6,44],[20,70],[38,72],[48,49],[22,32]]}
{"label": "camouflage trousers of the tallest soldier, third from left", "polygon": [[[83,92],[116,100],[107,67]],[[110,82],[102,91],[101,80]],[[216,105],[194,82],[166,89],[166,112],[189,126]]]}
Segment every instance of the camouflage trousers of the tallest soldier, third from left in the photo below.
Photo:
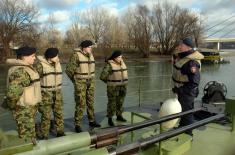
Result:
{"label": "camouflage trousers of the tallest soldier, third from left", "polygon": [[84,110],[87,106],[87,116],[90,122],[95,120],[94,116],[94,91],[95,82],[94,79],[79,79],[75,80],[74,84],[74,96],[75,96],[75,113],[74,113],[74,125],[80,126],[83,118]]}

